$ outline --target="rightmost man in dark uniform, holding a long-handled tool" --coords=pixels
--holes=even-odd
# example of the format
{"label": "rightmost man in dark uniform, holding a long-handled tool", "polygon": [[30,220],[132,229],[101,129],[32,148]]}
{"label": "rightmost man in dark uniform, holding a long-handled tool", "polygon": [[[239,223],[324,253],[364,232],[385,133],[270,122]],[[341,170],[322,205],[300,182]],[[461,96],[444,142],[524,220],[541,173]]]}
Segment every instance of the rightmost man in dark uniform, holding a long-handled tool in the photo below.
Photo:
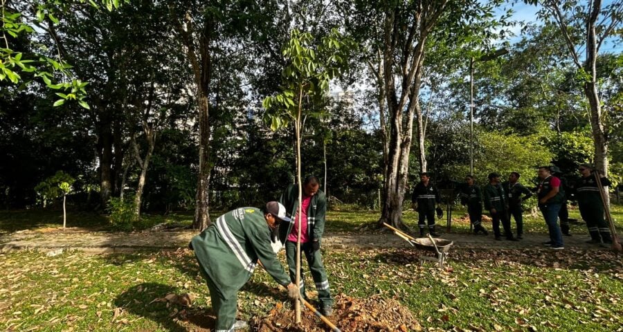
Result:
{"label": "rightmost man in dark uniform, holding a long-handled tool", "polygon": [[[612,243],[610,228],[604,220],[604,203],[599,187],[595,181],[595,174],[591,173],[588,164],[579,166],[582,178],[575,184],[575,196],[579,205],[580,215],[586,221],[590,240],[588,243]],[[599,176],[603,187],[610,185],[610,180],[605,176]]]}

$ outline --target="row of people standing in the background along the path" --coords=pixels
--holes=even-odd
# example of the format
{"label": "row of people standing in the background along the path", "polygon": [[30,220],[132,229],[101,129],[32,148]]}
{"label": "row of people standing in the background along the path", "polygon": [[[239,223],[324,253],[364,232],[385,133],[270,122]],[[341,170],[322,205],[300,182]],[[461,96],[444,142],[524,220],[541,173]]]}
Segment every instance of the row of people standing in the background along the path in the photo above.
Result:
{"label": "row of people standing in the background along the path", "polygon": [[[511,172],[508,181],[505,182],[500,180],[500,174],[493,172],[488,176],[489,183],[482,188],[474,183],[473,176],[468,175],[465,177],[465,183],[458,186],[460,201],[462,205],[467,205],[474,234],[488,234],[482,226],[484,203],[485,209],[489,210],[491,215],[495,239],[501,240],[504,236],[509,241],[518,241],[523,239],[522,203],[536,194],[539,210],[543,214],[545,224],[548,225],[550,235],[550,241],[543,244],[554,250],[561,250],[564,249],[562,235],[571,235],[567,198],[569,194],[575,194],[581,217],[586,221],[590,234],[590,240],[587,242],[612,243],[610,229],[604,220],[604,205],[597,178],[603,187],[611,183],[604,176],[595,176],[597,173],[592,172],[590,165],[582,164],[578,167],[578,171],[581,178],[575,185],[568,186],[557,176],[560,172],[558,167],[539,167],[539,183],[533,190],[529,190],[518,182],[521,176],[518,172]],[[420,181],[415,185],[411,196],[413,208],[419,214],[419,237],[424,237],[426,226],[428,226],[428,233],[437,237],[439,234],[435,232],[435,212],[439,218],[443,214],[440,206],[441,196],[428,173],[419,174],[419,178]],[[516,235],[511,229],[511,218],[515,219]],[[504,233],[500,232],[500,223]]]}

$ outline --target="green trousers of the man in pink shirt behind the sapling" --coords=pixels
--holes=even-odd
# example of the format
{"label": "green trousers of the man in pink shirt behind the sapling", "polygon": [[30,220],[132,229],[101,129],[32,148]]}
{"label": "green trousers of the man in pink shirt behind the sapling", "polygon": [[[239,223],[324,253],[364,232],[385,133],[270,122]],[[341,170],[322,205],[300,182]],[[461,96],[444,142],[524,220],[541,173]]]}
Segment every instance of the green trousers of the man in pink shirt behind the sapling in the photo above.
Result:
{"label": "green trousers of the man in pink shirt behind the sapling", "polygon": [[[318,301],[321,306],[333,306],[333,298],[331,297],[331,291],[329,291],[329,279],[327,278],[327,272],[325,266],[323,266],[323,257],[320,255],[320,250],[310,252],[307,248],[311,248],[311,242],[300,243],[300,295],[307,299],[305,295],[305,282],[303,282],[303,255],[307,258],[307,265],[311,271],[311,277],[316,284],[316,291],[318,291]],[[296,242],[286,241],[286,258],[288,261],[288,272],[290,273],[290,279],[294,283],[296,282]]]}

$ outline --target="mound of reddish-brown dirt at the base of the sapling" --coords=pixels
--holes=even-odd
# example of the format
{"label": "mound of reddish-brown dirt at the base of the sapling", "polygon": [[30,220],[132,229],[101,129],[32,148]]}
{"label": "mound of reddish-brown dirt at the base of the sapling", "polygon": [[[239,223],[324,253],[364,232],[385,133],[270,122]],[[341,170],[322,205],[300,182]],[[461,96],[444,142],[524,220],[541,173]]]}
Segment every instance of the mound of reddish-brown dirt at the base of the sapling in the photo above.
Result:
{"label": "mound of reddish-brown dirt at the base of the sapling", "polygon": [[[422,331],[422,326],[407,308],[395,299],[383,299],[377,295],[365,299],[337,295],[329,320],[343,332]],[[267,317],[255,318],[251,325],[253,331],[260,332],[330,330],[304,307],[301,307],[301,323],[297,326],[294,324],[294,311],[280,304]]]}

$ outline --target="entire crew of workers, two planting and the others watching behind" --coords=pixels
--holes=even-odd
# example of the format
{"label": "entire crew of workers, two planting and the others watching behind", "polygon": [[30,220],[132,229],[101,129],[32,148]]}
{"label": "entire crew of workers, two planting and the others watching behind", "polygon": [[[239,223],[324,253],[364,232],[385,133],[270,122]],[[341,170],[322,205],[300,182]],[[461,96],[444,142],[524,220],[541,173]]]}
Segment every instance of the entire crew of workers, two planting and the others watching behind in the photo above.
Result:
{"label": "entire crew of workers, two planting and the others watching behind", "polygon": [[[581,179],[568,188],[577,199],[582,219],[586,221],[590,243],[611,243],[612,238],[604,220],[604,205],[599,193],[597,178],[602,186],[610,185],[604,176],[595,176],[590,165],[580,165]],[[562,234],[570,235],[568,212],[566,210],[566,188],[561,178],[554,174],[557,167],[539,167],[539,184],[534,190],[518,182],[520,174],[512,172],[508,181],[502,182],[500,174],[489,174],[489,183],[478,187],[471,175],[459,186],[462,205],[467,205],[469,220],[474,234],[488,232],[482,225],[482,205],[491,215],[496,240],[504,236],[509,241],[523,239],[523,201],[536,194],[538,206],[548,225],[550,241],[546,246],[554,250],[563,249]],[[427,173],[419,174],[412,201],[419,213],[419,236],[425,230],[437,237],[435,214],[442,217],[441,196]],[[201,234],[193,237],[189,247],[195,250],[199,270],[206,279],[210,300],[217,316],[215,331],[235,331],[246,328],[246,322],[236,320],[237,293],[251,278],[253,270],[260,264],[273,279],[287,289],[290,299],[298,301],[304,297],[305,282],[296,280],[296,247],[300,225],[301,252],[318,291],[318,302],[323,315],[330,316],[334,300],[329,291],[329,280],[320,255],[325,228],[327,199],[319,190],[316,176],[308,176],[303,182],[303,199],[298,199],[297,185],[289,185],[279,201],[266,203],[263,208],[238,208],[219,216]],[[300,210],[300,214],[299,214]],[[512,232],[510,218],[516,222],[516,235]],[[558,219],[561,225],[558,225]],[[299,222],[300,221],[300,222]],[[500,232],[500,223],[504,233]],[[288,274],[276,256],[276,248],[285,246]],[[300,275],[303,275],[301,268]]]}

